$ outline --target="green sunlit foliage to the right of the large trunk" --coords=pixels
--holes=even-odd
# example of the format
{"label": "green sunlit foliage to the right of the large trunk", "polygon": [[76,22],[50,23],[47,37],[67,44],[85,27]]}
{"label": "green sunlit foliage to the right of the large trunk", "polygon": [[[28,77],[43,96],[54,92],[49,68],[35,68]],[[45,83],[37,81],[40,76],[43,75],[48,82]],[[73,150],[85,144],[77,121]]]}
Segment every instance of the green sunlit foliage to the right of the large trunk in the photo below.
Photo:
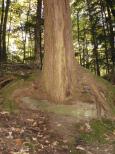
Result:
{"label": "green sunlit foliage to the right of the large trunk", "polygon": [[75,0],[71,5],[76,58],[96,74],[98,65],[101,75],[112,71],[111,33],[107,27],[113,21],[108,17],[106,5],[103,0]]}

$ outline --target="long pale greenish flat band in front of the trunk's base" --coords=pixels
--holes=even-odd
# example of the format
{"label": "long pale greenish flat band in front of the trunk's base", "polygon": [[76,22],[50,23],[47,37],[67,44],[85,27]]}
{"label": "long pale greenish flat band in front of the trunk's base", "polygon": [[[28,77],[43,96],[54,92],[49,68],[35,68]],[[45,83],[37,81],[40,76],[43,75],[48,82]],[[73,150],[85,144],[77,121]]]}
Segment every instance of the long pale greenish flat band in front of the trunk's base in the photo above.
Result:
{"label": "long pale greenish flat band in front of the trunk's base", "polygon": [[89,104],[84,104],[84,106],[79,106],[79,104],[55,104],[30,97],[23,97],[21,100],[31,109],[39,109],[41,111],[55,113],[57,115],[71,116],[78,119],[81,119],[81,117],[84,117],[84,119],[97,117],[97,112],[88,106]]}

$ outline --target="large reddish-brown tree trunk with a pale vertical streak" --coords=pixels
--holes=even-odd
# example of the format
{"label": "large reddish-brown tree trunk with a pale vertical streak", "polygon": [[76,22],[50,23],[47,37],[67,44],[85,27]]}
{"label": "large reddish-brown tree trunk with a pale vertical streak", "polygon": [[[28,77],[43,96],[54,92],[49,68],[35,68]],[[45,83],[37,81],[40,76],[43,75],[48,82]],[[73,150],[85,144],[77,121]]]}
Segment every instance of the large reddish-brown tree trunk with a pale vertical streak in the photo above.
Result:
{"label": "large reddish-brown tree trunk with a pale vertical streak", "polygon": [[75,85],[69,0],[44,0],[44,6],[43,79],[50,100],[61,103],[72,96]]}

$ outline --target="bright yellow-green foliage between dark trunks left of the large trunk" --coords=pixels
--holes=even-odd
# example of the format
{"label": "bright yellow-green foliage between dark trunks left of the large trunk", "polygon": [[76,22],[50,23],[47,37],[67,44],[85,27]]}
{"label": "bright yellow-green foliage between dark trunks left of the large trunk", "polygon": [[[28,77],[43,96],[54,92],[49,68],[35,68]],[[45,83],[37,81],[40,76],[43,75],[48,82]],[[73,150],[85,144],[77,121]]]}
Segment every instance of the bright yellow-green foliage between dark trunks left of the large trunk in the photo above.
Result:
{"label": "bright yellow-green foliage between dark trunks left of the large trunk", "polygon": [[34,55],[36,3],[37,0],[11,1],[6,39],[8,59],[10,60],[12,60],[11,57],[13,56],[19,57],[18,60],[23,61],[24,48],[26,48],[26,57]]}

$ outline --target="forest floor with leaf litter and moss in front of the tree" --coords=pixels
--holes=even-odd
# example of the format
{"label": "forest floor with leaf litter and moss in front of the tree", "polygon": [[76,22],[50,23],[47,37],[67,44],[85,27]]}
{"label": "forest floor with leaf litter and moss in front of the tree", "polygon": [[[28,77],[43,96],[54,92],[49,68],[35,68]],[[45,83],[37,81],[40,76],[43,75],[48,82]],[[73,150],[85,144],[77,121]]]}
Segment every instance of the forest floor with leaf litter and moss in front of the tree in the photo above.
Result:
{"label": "forest floor with leaf litter and moss in front of the tree", "polygon": [[75,105],[43,105],[30,97],[15,104],[11,93],[24,82],[0,91],[0,154],[115,154],[114,119],[78,120]]}

